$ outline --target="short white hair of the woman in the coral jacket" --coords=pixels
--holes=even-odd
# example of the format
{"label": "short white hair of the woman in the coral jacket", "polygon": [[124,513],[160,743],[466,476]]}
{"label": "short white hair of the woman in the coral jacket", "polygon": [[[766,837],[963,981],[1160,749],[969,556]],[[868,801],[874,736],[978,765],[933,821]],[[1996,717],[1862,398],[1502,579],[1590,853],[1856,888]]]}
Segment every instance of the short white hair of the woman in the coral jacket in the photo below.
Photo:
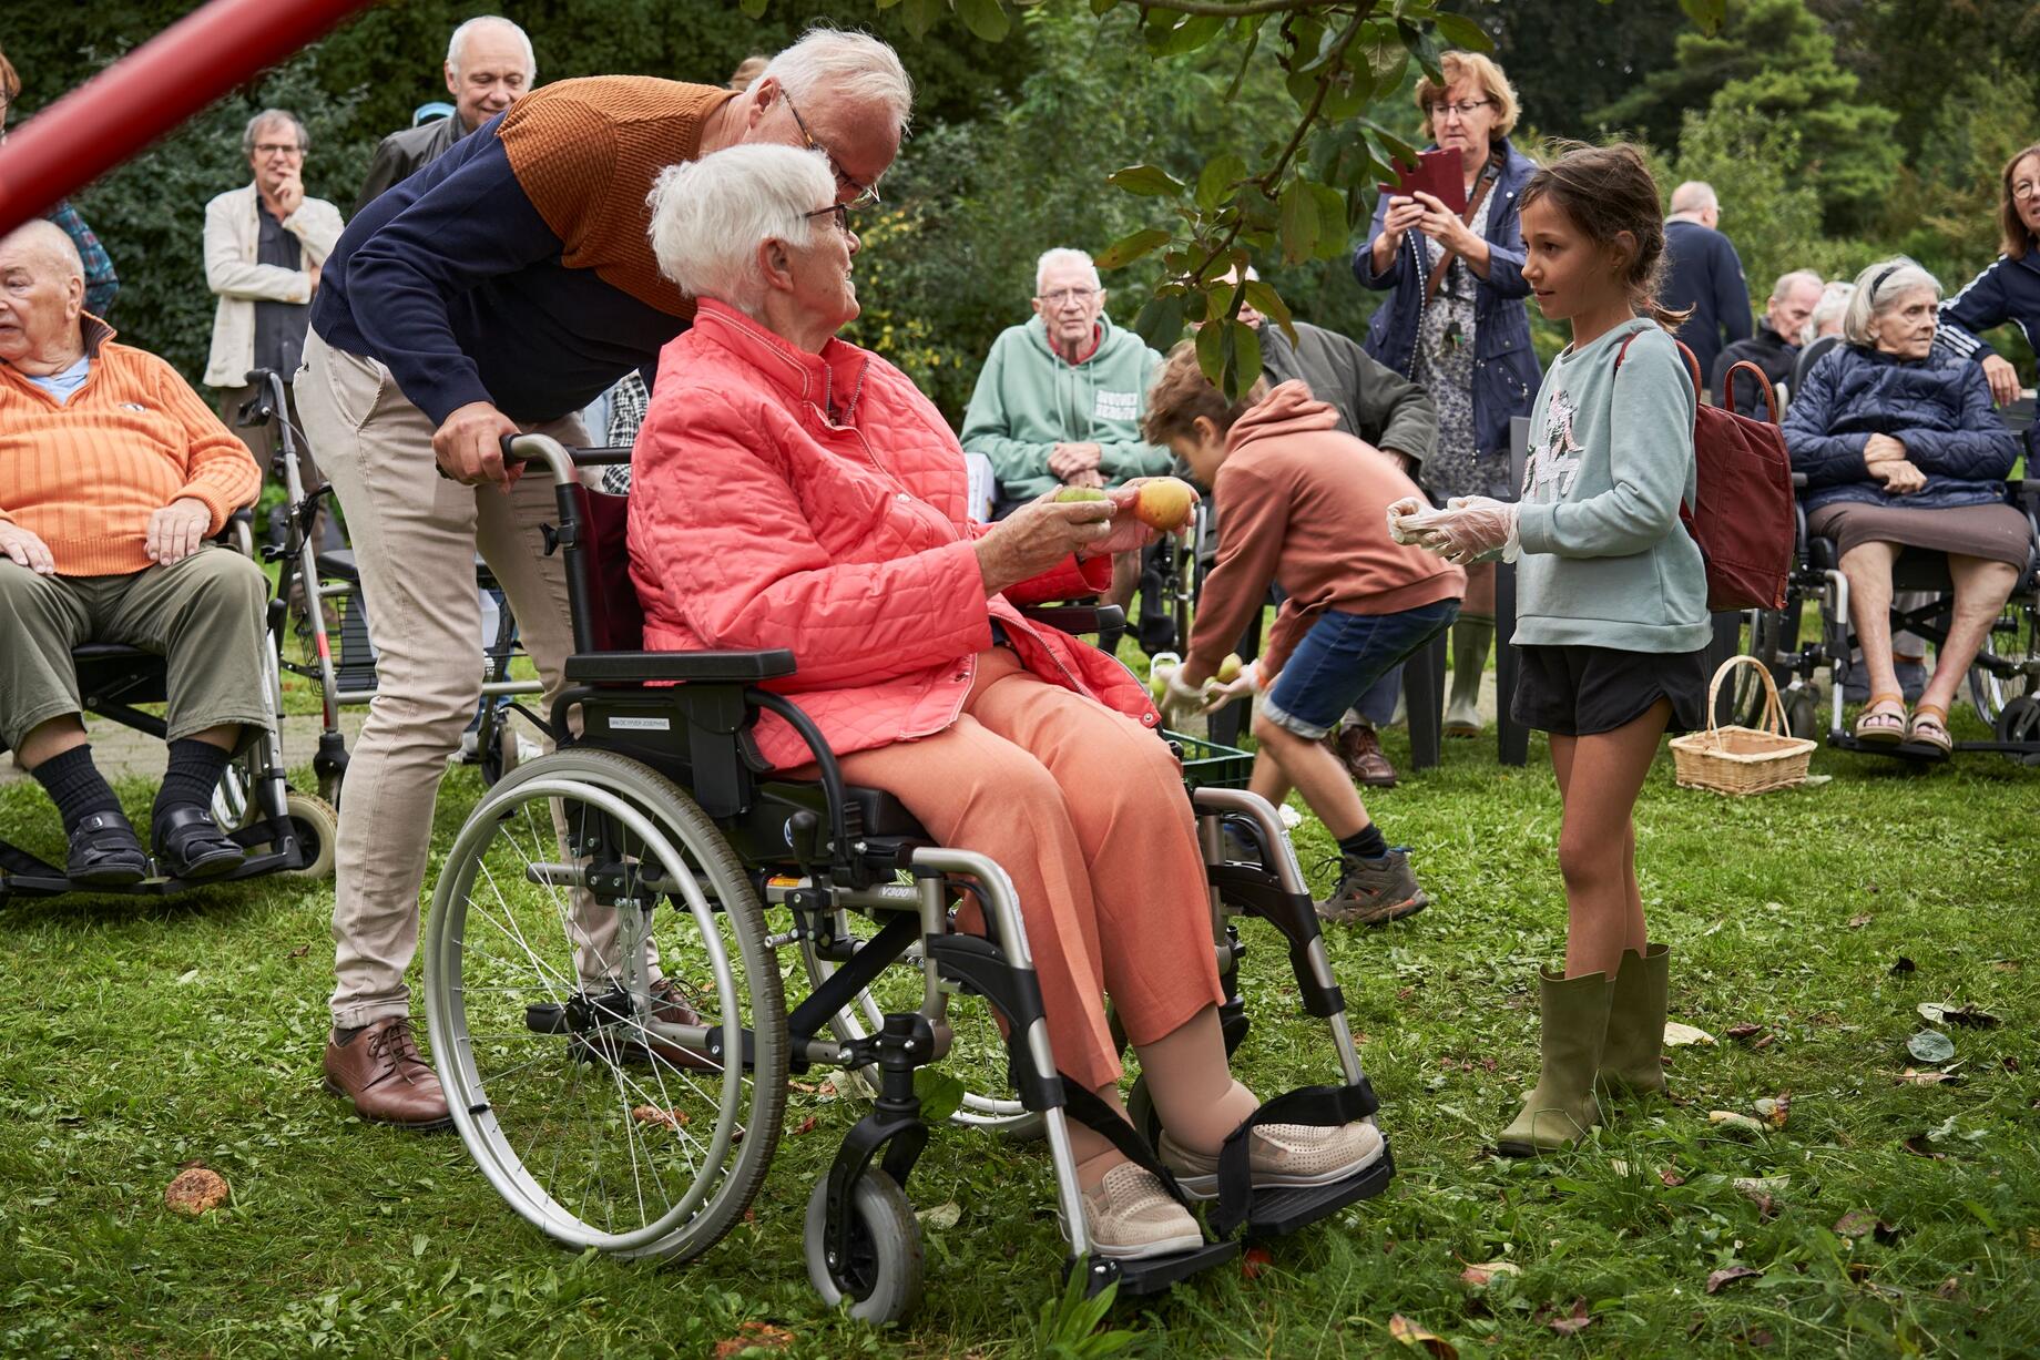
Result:
{"label": "short white hair of the woman in the coral jacket", "polygon": [[820,151],[741,143],[667,165],[647,202],[659,273],[690,298],[757,316],[765,306],[759,245],[806,243],[818,228],[834,230],[808,214],[836,202],[836,177]]}

